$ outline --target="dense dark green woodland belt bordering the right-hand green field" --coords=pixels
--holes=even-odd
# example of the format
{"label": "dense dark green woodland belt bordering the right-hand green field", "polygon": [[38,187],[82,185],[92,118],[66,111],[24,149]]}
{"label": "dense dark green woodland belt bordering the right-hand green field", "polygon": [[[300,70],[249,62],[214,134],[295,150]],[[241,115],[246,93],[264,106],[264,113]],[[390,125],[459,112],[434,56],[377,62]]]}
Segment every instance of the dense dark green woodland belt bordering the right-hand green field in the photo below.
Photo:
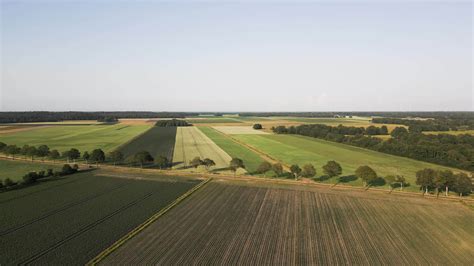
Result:
{"label": "dense dark green woodland belt bordering the right-hand green field", "polygon": [[[383,140],[362,134],[347,134],[351,130],[344,129],[344,131],[340,131],[339,128],[348,127],[311,124],[296,127],[277,126],[272,129],[277,134],[297,134],[320,138],[378,152],[474,171],[474,136],[469,134],[425,135],[418,131],[409,131],[404,127],[396,127],[390,133],[392,138]],[[353,127],[352,130],[357,132],[358,128]]]}

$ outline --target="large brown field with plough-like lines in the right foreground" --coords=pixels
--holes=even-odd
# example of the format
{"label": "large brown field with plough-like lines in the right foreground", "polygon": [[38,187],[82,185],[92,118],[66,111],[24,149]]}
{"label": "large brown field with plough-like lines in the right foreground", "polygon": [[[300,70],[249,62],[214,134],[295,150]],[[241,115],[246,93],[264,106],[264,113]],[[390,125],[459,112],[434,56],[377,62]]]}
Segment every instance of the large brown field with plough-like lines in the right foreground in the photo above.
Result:
{"label": "large brown field with plough-like lines in the right foreground", "polygon": [[468,265],[474,258],[474,212],[461,204],[226,182],[207,184],[102,264]]}

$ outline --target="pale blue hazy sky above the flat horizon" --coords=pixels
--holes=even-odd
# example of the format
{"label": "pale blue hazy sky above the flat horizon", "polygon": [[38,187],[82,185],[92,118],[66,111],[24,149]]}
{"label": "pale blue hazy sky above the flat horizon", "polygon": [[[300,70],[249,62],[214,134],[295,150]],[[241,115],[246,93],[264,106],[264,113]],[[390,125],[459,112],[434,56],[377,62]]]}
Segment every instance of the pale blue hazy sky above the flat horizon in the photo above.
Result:
{"label": "pale blue hazy sky above the flat horizon", "polygon": [[0,110],[472,111],[472,14],[470,1],[2,1]]}

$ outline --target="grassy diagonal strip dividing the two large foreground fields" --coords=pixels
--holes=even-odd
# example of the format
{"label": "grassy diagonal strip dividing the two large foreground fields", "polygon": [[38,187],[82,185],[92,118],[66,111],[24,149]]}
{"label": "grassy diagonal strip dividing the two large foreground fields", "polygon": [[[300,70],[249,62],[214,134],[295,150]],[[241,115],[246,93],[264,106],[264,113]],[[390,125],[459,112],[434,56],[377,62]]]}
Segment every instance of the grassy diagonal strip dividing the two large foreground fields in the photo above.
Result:
{"label": "grassy diagonal strip dividing the two large foreground fields", "polygon": [[115,243],[113,243],[110,247],[106,248],[104,251],[99,253],[95,258],[93,258],[91,261],[89,261],[86,265],[97,265],[99,262],[101,262],[103,259],[105,259],[108,255],[110,255],[112,252],[117,250],[119,247],[121,247],[125,242],[127,242],[129,239],[133,238],[136,236],[138,233],[143,231],[145,228],[147,228],[149,225],[151,225],[153,222],[158,220],[161,216],[163,216],[166,212],[171,210],[173,207],[178,205],[181,201],[189,197],[192,193],[197,191],[198,189],[202,188],[204,185],[209,183],[212,180],[212,178],[208,178],[201,183],[197,184],[190,190],[188,190],[186,193],[178,197],[176,200],[174,200],[172,203],[170,203],[168,206],[165,208],[161,209],[157,213],[155,213],[153,216],[148,218],[145,222],[137,226],[135,229],[127,233],[125,236],[117,240]]}

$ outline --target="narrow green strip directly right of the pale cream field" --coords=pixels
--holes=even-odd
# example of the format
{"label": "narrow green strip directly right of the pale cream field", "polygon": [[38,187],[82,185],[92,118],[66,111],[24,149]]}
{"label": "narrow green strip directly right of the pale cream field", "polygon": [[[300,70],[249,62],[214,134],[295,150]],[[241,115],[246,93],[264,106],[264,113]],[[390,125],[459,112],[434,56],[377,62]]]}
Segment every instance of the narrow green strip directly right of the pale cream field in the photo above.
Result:
{"label": "narrow green strip directly right of the pale cream field", "polygon": [[242,159],[248,172],[255,172],[258,165],[263,162],[263,159],[258,156],[258,154],[232,141],[215,129],[210,127],[199,127],[199,129],[232,158],[237,157]]}

